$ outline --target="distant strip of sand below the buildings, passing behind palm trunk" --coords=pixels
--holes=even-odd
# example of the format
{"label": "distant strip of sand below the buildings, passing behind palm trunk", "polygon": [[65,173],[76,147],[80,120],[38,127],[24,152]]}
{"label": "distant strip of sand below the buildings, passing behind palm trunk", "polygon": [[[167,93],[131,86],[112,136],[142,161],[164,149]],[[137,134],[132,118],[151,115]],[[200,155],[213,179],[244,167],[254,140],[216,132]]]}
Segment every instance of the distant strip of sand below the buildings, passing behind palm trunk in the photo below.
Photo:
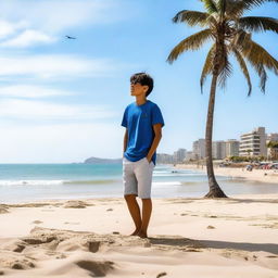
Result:
{"label": "distant strip of sand below the buildings, passing behind palm trunk", "polygon": [[[205,166],[193,165],[193,164],[176,164],[177,169],[191,169],[199,170],[202,173],[206,172]],[[226,176],[232,179],[245,179],[250,181],[267,182],[278,185],[278,172],[274,169],[253,169],[252,172],[245,168],[233,168],[233,167],[214,167],[216,176]]]}

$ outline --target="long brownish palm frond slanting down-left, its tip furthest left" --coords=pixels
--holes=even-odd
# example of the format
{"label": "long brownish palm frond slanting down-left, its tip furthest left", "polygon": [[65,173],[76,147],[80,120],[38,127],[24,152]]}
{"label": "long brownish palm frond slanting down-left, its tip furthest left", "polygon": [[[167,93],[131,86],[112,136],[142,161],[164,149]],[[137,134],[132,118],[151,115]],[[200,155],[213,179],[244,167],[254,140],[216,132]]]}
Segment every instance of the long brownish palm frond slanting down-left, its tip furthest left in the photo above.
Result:
{"label": "long brownish palm frond slanting down-left, its tip furthest left", "polygon": [[188,50],[199,50],[203,43],[213,38],[211,29],[204,29],[181,40],[169,53],[167,61],[173,63],[177,58]]}

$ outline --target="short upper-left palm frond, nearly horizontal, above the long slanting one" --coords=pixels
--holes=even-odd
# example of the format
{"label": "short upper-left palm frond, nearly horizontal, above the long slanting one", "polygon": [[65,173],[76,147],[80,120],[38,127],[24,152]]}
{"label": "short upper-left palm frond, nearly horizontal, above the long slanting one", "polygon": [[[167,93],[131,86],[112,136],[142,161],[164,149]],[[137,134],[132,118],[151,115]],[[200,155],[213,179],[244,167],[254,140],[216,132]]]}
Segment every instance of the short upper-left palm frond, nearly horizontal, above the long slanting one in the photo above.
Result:
{"label": "short upper-left palm frond, nearly horizontal, above the long slanting one", "polygon": [[205,26],[210,21],[214,18],[208,13],[203,13],[199,11],[188,11],[184,10],[176,14],[173,18],[174,23],[185,22],[189,26]]}

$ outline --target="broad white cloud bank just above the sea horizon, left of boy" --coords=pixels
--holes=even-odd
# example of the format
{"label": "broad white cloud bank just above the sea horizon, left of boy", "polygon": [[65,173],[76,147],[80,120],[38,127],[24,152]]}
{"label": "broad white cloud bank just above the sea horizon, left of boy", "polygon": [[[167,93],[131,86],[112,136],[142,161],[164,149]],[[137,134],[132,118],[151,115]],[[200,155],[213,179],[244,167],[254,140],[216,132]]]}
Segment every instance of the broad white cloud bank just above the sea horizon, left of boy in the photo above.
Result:
{"label": "broad white cloud bank just above the sea horizon, left of boy", "polygon": [[[0,123],[0,163],[71,163],[121,157],[123,129],[113,124],[13,126]],[[113,140],[111,139],[113,138]]]}

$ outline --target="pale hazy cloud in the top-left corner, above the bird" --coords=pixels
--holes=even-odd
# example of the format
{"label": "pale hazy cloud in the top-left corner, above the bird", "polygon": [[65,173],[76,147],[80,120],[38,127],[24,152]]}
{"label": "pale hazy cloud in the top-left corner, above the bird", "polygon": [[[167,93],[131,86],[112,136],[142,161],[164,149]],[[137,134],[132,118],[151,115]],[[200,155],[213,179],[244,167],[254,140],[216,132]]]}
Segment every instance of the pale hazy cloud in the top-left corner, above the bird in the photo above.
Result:
{"label": "pale hazy cloud in the top-left corner, above the bird", "polygon": [[121,12],[118,0],[1,0],[0,9],[4,18],[26,20],[46,31],[123,17],[115,13]]}

